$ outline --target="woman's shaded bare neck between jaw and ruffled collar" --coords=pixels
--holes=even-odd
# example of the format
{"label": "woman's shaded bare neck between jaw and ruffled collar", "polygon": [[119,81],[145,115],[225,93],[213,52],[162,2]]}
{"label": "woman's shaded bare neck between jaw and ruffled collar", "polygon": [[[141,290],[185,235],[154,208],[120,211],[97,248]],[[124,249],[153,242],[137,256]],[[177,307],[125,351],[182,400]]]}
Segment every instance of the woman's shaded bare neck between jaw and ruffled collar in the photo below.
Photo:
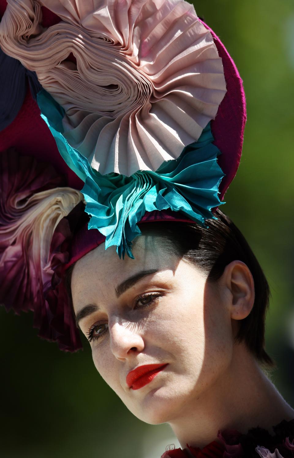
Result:
{"label": "woman's shaded bare neck between jaw and ruffled collar", "polygon": [[236,344],[230,366],[198,398],[189,399],[177,418],[169,422],[182,448],[203,448],[216,440],[219,430],[246,434],[257,425],[273,433],[272,426],[294,419],[294,409],[262,372],[244,344]]}

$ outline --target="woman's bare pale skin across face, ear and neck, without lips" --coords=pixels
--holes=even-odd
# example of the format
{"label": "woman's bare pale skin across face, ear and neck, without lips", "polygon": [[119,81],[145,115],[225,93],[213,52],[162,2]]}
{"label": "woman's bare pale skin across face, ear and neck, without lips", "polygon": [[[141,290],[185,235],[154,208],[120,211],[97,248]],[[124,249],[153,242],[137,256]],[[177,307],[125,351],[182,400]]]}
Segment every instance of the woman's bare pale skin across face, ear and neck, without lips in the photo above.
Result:
{"label": "woman's bare pale skin across face, ear and neck, without lips", "polygon": [[[182,448],[203,448],[218,430],[259,425],[273,433],[294,419],[246,345],[234,341],[254,303],[248,267],[233,261],[212,284],[155,236],[138,237],[133,254],[120,260],[102,244],[75,264],[71,281],[75,313],[93,305],[79,325],[100,336],[90,343],[96,369],[127,408],[146,423],[168,423]],[[154,270],[118,297],[118,284]],[[161,363],[168,365],[152,382],[128,387],[129,371]]]}

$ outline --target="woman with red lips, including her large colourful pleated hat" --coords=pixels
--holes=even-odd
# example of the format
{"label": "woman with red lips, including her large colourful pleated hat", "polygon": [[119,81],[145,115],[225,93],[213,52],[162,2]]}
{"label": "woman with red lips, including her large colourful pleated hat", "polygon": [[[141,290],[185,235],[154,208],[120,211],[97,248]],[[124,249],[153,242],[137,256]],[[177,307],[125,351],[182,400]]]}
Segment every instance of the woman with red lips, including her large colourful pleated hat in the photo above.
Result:
{"label": "woman with red lips, including her large colourful pleated hat", "polygon": [[48,145],[4,133],[5,148],[32,148],[74,188],[2,153],[1,302],[33,308],[40,335],[71,350],[73,305],[106,382],[140,419],[172,426],[184,450],[167,456],[292,456],[294,411],[260,367],[267,282],[215,211],[245,123],[224,46],[177,0],[11,0],[0,43],[53,134],[38,119]]}

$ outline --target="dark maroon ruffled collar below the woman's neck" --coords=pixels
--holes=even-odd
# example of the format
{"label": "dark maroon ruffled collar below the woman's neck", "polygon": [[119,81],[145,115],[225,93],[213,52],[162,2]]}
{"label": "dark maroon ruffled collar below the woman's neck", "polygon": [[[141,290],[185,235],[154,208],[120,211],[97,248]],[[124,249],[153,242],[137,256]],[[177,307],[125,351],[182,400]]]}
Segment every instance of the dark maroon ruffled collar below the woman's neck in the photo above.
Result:
{"label": "dark maroon ruffled collar below the woman's neck", "polygon": [[187,444],[187,449],[168,450],[161,458],[293,458],[294,419],[281,421],[273,426],[273,431],[274,436],[259,426],[251,428],[247,434],[236,430],[218,431],[219,442],[210,442],[202,450]]}

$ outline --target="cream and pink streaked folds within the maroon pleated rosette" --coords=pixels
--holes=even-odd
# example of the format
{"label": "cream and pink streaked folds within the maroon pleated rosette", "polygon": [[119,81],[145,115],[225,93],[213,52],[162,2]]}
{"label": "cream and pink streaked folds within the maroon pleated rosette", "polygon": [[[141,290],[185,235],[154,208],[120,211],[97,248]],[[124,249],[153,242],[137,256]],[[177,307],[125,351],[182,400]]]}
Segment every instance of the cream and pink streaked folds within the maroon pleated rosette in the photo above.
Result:
{"label": "cream and pink streaked folds within the maroon pleated rosette", "polygon": [[17,193],[8,201],[12,221],[0,228],[0,245],[6,245],[0,256],[0,270],[14,272],[11,266],[21,260],[22,275],[32,284],[33,305],[41,285],[50,282],[53,274],[49,255],[54,230],[84,197],[68,187],[37,192],[27,199],[23,196]]}

